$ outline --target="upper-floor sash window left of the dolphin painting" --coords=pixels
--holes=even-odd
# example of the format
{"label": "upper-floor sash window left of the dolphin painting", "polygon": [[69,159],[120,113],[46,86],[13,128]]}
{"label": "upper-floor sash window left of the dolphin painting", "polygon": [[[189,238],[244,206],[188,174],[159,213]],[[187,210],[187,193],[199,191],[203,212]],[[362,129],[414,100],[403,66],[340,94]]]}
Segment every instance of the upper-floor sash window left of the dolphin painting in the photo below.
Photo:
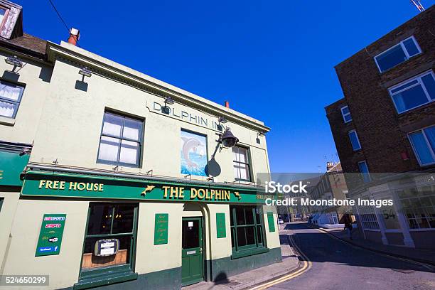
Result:
{"label": "upper-floor sash window left of the dolphin painting", "polygon": [[98,163],[139,167],[144,122],[104,112]]}

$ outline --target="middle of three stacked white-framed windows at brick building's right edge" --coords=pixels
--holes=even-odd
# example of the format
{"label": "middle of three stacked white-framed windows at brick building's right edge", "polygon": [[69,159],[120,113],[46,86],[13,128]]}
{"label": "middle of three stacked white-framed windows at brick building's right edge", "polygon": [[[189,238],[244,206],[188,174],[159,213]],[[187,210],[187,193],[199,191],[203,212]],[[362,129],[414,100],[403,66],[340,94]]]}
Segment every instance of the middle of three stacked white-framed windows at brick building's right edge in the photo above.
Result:
{"label": "middle of three stacked white-framed windows at brick building's right edge", "polygon": [[[394,103],[394,107],[396,107],[397,113],[402,114],[404,112],[407,112],[411,109],[415,109],[418,107],[423,106],[424,104],[429,104],[431,102],[435,101],[435,75],[432,70],[426,71],[425,73],[421,73],[420,75],[417,75],[415,77],[412,77],[408,80],[405,80],[404,82],[400,82],[397,85],[394,85],[393,87],[388,88],[388,92],[390,92],[390,96],[392,98],[392,101]],[[399,101],[402,100],[404,102],[404,96],[403,93],[409,91],[409,90],[418,90],[421,98],[421,102],[417,105],[414,105],[413,107],[404,107],[405,104],[399,104]],[[402,97],[402,99],[399,99],[399,97]],[[410,97],[411,99],[415,100],[415,95]]]}

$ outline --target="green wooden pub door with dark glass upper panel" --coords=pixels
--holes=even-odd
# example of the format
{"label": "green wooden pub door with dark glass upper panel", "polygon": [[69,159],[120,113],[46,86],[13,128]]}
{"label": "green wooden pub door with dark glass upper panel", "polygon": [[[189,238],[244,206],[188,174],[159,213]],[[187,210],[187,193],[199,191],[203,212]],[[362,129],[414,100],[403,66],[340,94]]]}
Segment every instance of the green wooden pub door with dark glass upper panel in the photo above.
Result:
{"label": "green wooden pub door with dark glass upper panel", "polygon": [[181,284],[203,281],[203,220],[183,218],[182,222]]}

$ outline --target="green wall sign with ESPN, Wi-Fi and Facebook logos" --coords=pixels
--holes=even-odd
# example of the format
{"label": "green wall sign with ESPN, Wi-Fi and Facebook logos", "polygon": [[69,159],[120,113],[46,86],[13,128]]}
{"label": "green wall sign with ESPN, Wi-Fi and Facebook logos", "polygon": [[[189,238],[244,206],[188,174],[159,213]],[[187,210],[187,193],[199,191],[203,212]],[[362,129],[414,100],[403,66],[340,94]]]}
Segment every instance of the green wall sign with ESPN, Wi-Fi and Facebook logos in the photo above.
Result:
{"label": "green wall sign with ESPN, Wi-Fi and Facebook logos", "polygon": [[36,257],[60,253],[65,220],[65,214],[45,214],[43,216],[36,246]]}

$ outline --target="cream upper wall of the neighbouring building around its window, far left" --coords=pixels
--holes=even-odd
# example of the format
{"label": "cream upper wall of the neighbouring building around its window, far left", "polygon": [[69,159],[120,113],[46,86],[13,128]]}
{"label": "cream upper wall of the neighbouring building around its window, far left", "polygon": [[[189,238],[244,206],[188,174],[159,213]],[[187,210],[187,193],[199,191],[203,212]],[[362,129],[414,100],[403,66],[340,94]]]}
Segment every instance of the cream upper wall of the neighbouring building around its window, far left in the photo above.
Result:
{"label": "cream upper wall of the neighbouring building around its window, far left", "polygon": [[11,75],[6,71],[13,68],[4,62],[9,56],[11,55],[0,52],[0,73],[3,75],[1,80],[24,84],[25,89],[15,119],[0,117],[0,141],[32,144],[50,85],[52,68],[34,60],[21,58],[23,68],[18,68],[18,80],[12,80],[5,77]]}

